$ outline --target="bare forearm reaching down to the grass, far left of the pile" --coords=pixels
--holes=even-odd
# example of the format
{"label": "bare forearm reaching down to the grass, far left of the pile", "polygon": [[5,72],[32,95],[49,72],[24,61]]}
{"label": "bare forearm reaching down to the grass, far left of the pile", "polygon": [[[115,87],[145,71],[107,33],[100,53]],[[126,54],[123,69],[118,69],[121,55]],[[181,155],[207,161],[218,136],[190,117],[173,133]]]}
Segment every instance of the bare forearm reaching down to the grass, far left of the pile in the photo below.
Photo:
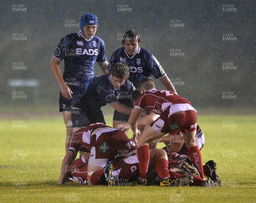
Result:
{"label": "bare forearm reaching down to the grass, far left of the pile", "polygon": [[73,151],[71,151],[71,150],[66,151],[66,155],[65,155],[64,159],[62,160],[62,164],[61,164],[61,177],[59,180],[59,184],[64,184],[66,178],[69,175],[69,170],[67,170],[67,169],[70,168],[73,156],[74,156]]}

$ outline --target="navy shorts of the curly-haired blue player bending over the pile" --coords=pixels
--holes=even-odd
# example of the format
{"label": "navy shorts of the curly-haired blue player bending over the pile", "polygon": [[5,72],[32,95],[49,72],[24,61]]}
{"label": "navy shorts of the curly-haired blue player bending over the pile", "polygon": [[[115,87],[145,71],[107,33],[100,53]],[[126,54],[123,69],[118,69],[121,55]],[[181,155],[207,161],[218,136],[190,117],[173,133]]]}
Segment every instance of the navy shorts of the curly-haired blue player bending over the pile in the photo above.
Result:
{"label": "navy shorts of the curly-haired blue player bending over the pile", "polygon": [[71,120],[73,123],[73,128],[85,127],[92,123],[106,124],[104,114],[100,109],[72,109]]}

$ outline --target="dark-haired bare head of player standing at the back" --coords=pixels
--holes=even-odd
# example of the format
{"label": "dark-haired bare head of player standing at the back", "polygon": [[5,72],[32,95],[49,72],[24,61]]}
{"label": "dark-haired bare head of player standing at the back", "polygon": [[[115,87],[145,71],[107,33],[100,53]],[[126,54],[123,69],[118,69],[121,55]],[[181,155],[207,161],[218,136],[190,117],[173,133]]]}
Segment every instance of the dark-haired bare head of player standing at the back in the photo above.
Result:
{"label": "dark-haired bare head of player standing at the back", "polygon": [[128,55],[134,55],[140,45],[140,34],[134,29],[129,29],[125,32],[125,35],[122,38],[122,45],[125,46],[125,50]]}

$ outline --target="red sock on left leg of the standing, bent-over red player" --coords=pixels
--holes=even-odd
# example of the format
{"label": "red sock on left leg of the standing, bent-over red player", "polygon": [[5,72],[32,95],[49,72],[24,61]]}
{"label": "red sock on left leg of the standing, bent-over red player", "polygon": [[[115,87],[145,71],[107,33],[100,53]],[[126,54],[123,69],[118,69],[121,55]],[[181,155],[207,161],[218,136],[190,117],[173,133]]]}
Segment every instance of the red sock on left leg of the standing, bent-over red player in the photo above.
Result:
{"label": "red sock on left leg of the standing, bent-over red player", "polygon": [[147,179],[148,162],[149,162],[149,148],[147,145],[137,148],[140,178]]}

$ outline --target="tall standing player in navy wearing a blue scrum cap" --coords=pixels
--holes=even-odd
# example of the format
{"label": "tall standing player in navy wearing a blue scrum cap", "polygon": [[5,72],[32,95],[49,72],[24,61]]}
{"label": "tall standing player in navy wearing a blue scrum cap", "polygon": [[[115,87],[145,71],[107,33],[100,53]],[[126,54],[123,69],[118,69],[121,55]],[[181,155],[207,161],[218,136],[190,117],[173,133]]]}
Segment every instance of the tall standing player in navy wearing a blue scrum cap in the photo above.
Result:
{"label": "tall standing player in navy wearing a blue scrum cap", "polygon": [[[67,128],[66,147],[73,132],[71,121],[71,102],[78,89],[94,77],[94,63],[99,64],[105,73],[108,66],[105,44],[95,36],[98,29],[97,17],[84,14],[81,17],[79,32],[66,35],[56,48],[51,70],[60,87],[59,111],[62,112]],[[59,64],[64,60],[64,73]]]}

